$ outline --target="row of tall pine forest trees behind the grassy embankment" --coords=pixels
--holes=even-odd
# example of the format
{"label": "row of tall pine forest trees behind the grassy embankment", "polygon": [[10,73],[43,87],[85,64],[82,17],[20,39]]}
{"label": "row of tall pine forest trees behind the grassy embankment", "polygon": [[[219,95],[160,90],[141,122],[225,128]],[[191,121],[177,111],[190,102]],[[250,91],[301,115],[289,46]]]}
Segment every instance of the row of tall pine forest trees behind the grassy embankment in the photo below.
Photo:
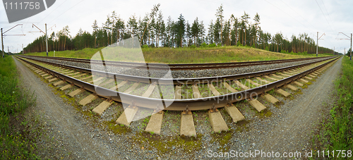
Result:
{"label": "row of tall pine forest trees behind the grassy embankment", "polygon": [[[123,20],[113,11],[101,27],[97,20],[92,23],[92,33],[82,29],[72,37],[66,25],[59,32],[48,35],[49,51],[80,50],[84,48],[107,47],[122,39],[138,37],[141,47],[217,47],[248,46],[282,53],[316,54],[316,44],[306,33],[285,38],[282,32],[271,35],[261,30],[261,18],[256,13],[251,19],[244,11],[242,16],[233,14],[226,18],[223,6],[217,8],[215,20],[205,26],[197,17],[193,22],[180,14],[177,20],[170,16],[164,22],[160,4],[155,5],[143,18],[132,15]],[[45,36],[38,37],[24,49],[25,53],[42,52],[45,49]],[[318,54],[333,54],[332,49],[318,47]]]}

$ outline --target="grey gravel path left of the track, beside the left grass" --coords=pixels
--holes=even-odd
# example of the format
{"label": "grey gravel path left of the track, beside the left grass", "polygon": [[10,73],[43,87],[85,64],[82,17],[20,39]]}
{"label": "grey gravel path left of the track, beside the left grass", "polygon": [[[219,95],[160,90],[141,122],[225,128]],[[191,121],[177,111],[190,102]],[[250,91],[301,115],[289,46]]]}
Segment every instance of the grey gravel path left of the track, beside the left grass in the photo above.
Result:
{"label": "grey gravel path left of the track, beside the left grass", "polygon": [[53,89],[40,80],[30,68],[15,59],[23,86],[35,91],[37,106],[30,108],[30,113],[40,116],[45,133],[39,140],[42,158],[54,159],[116,159],[104,140],[91,137],[91,128],[83,118],[74,113]]}

